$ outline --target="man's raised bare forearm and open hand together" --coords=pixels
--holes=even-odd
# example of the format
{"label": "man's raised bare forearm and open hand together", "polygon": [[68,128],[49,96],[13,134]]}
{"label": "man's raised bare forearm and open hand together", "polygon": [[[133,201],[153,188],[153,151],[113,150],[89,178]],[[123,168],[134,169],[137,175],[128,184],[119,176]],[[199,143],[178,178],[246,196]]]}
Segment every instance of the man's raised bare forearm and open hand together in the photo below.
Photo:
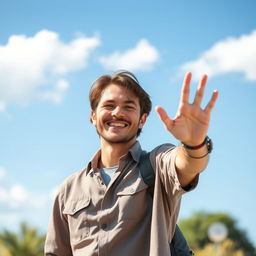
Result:
{"label": "man's raised bare forearm and open hand together", "polygon": [[[201,102],[207,81],[204,75],[198,85],[193,103],[189,103],[189,91],[191,73],[184,78],[180,104],[174,119],[170,119],[162,107],[156,107],[166,129],[178,140],[189,145],[200,145],[206,135],[210,123],[210,114],[218,97],[218,91],[214,91],[205,109],[201,108]],[[207,147],[203,146],[197,150],[187,149],[180,145],[175,160],[178,177],[181,186],[188,185],[198,173],[204,170],[208,163]],[[204,156],[204,157],[202,157]],[[194,158],[196,157],[196,158]]]}

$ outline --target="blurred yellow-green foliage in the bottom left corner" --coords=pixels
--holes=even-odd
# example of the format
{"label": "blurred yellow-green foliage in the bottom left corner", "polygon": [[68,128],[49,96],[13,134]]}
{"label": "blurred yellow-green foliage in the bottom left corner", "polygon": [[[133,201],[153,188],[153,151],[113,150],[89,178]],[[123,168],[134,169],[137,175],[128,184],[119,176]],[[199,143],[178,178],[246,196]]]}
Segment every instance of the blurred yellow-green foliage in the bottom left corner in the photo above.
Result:
{"label": "blurred yellow-green foliage in the bottom left corner", "polygon": [[44,240],[36,228],[23,222],[18,233],[4,230],[0,234],[0,252],[6,256],[42,256]]}

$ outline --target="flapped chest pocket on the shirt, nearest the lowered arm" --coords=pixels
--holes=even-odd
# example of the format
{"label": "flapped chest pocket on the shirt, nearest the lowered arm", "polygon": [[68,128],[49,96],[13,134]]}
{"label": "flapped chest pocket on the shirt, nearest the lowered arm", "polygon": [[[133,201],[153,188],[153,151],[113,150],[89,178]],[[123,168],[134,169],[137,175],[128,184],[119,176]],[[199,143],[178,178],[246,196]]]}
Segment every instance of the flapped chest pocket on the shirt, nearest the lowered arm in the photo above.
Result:
{"label": "flapped chest pocket on the shirt, nearest the lowered arm", "polygon": [[67,215],[72,244],[80,242],[89,236],[90,225],[87,219],[87,210],[90,202],[89,197],[84,197],[77,200],[70,200],[65,205],[63,214]]}

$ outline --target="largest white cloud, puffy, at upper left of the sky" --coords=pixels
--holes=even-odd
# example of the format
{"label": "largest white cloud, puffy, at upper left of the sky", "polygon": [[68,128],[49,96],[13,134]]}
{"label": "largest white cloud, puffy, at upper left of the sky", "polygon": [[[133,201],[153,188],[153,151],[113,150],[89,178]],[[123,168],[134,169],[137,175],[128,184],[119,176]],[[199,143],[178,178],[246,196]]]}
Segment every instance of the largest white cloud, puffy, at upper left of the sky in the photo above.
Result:
{"label": "largest white cloud, puffy, at upper left of the sky", "polygon": [[99,44],[97,36],[64,43],[58,33],[49,30],[32,37],[11,36],[6,45],[0,45],[0,111],[35,98],[60,103],[68,89],[63,76],[85,68]]}

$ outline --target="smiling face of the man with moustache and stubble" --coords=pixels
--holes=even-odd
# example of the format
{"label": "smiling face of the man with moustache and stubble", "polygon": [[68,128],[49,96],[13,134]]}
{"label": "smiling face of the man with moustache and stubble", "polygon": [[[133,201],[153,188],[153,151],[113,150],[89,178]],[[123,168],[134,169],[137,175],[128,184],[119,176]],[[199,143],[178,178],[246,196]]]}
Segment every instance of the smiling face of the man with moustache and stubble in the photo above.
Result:
{"label": "smiling face of the man with moustache and stubble", "polygon": [[136,141],[139,128],[147,114],[140,116],[139,99],[122,86],[110,84],[101,94],[99,104],[91,112],[91,119],[104,142],[129,143]]}

